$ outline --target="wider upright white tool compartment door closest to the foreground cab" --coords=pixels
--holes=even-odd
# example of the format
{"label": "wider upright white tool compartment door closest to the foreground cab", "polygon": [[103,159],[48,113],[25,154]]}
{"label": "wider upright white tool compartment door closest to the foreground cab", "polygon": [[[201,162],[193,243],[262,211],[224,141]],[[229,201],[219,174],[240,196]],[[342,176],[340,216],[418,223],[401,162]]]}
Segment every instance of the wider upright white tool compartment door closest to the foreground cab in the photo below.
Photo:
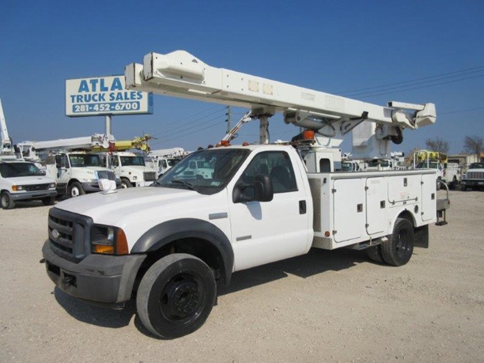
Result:
{"label": "wider upright white tool compartment door closest to the foreground cab", "polygon": [[333,183],[333,236],[336,242],[364,233],[364,179],[336,179]]}

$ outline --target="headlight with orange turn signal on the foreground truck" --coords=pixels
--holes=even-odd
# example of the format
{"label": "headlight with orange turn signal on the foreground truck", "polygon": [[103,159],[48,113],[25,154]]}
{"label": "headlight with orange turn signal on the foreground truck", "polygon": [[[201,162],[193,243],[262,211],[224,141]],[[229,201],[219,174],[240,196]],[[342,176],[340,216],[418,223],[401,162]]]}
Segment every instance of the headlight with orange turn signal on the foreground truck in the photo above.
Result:
{"label": "headlight with orange turn signal on the foreground truck", "polygon": [[91,230],[91,252],[98,254],[128,254],[128,241],[121,228],[94,225]]}

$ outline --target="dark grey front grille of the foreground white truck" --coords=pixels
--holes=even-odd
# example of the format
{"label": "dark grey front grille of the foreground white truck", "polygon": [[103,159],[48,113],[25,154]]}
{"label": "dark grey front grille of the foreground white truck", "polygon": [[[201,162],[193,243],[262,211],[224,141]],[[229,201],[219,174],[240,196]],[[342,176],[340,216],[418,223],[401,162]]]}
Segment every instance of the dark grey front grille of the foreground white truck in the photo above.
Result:
{"label": "dark grey front grille of the foreground white truck", "polygon": [[89,253],[92,219],[52,208],[48,216],[48,238],[55,254],[79,262]]}

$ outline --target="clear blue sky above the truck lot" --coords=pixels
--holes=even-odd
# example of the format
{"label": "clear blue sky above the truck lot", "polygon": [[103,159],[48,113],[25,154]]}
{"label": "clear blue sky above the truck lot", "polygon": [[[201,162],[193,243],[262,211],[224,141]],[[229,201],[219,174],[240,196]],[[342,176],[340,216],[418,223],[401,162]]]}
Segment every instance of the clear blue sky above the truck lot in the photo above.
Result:
{"label": "clear blue sky above the truck lot", "polygon": [[[483,1],[4,0],[0,13],[0,98],[14,142],[104,133],[102,116],[66,117],[65,80],[119,75],[147,53],[178,49],[365,102],[434,102],[436,124],[406,131],[395,151],[441,137],[458,153],[465,136],[484,137]],[[193,150],[220,140],[225,118],[218,104],[154,95],[153,115],[115,116],[112,131],[118,140],[149,133],[153,149]],[[271,140],[297,131],[270,120]],[[254,121],[237,142],[258,132]]]}

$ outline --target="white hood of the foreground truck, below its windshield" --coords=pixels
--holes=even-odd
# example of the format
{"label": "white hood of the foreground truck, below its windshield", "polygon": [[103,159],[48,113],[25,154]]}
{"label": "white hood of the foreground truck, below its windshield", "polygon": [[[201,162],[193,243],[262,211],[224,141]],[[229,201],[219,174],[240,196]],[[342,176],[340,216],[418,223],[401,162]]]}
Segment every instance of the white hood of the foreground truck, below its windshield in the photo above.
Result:
{"label": "white hood of the foreground truck, below its windshield", "polygon": [[[206,199],[207,196],[198,194],[193,190],[174,189],[162,187],[141,187],[117,189],[111,194],[97,192],[70,198],[55,207],[90,216],[97,223],[109,223],[118,225],[123,218],[130,214],[147,212],[152,208],[163,206],[169,208],[170,205],[183,203],[187,199],[191,203],[196,203],[198,199]],[[174,212],[174,211],[173,211]]]}

